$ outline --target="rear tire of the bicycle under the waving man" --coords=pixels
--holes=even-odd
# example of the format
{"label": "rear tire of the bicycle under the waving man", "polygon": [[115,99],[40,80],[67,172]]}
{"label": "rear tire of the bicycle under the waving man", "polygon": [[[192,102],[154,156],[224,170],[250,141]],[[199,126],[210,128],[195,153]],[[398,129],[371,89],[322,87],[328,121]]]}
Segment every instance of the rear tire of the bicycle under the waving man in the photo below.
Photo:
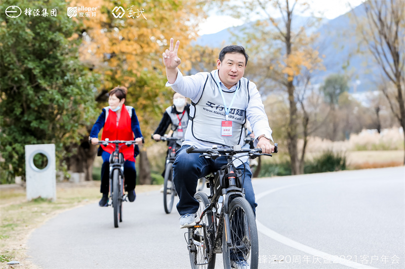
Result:
{"label": "rear tire of the bicycle under the waving man", "polygon": [[[199,207],[197,211],[197,216],[201,215],[201,212],[207,207],[207,205],[210,204],[210,200],[208,199],[207,194],[204,192],[197,192],[194,195],[194,198],[198,200],[199,202]],[[213,220],[214,220],[214,214],[213,212],[207,212],[203,219],[198,223],[198,224],[206,224],[208,227],[211,227],[213,225]],[[195,228],[194,232],[192,232],[192,229],[194,228],[188,228],[188,242],[190,242],[190,239],[194,237],[194,239],[199,238],[199,242],[202,243],[202,246],[196,246],[196,252],[197,257],[194,252],[189,251],[190,255],[190,263],[191,263],[191,268],[192,269],[214,269],[215,267],[215,257],[216,254],[214,253],[214,234],[211,236],[207,234],[208,239],[210,242],[204,242],[204,238],[201,238],[200,235],[204,235],[203,228]],[[197,235],[197,236],[196,236]],[[197,265],[198,263],[204,263],[206,262],[204,258],[204,253],[207,251],[207,244],[209,245],[210,253],[208,254],[210,262],[204,265]],[[197,262],[195,262],[197,260]],[[197,264],[195,264],[197,263]]]}

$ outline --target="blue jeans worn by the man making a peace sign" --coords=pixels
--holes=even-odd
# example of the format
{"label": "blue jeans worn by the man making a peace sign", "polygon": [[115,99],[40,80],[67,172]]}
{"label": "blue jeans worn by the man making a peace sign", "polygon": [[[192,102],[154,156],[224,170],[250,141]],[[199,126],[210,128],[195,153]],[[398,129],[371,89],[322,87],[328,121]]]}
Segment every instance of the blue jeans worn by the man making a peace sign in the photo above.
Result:
{"label": "blue jeans worn by the man making a peace sign", "polygon": [[[173,181],[180,201],[177,204],[177,211],[180,215],[187,213],[195,213],[198,210],[199,203],[194,198],[199,178],[202,178],[209,173],[216,172],[222,166],[228,164],[225,156],[221,156],[215,160],[211,158],[199,157],[200,153],[187,153],[188,145],[182,146],[176,152],[176,159],[173,164]],[[249,165],[245,163],[246,174],[244,188],[246,191],[245,198],[252,206],[253,212],[256,214],[257,203],[255,201],[255,192],[252,186],[252,172]],[[236,169],[244,169],[244,165],[240,165]]]}

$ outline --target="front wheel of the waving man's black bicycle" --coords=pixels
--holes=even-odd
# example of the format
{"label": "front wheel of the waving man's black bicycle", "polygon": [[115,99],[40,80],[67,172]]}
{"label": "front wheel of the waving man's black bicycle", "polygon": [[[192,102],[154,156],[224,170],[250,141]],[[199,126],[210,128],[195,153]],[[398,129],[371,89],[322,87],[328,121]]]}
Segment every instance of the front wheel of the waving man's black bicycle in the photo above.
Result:
{"label": "front wheel of the waving man's black bicycle", "polygon": [[[259,241],[255,215],[249,202],[236,197],[229,203],[231,246],[228,247],[225,231],[222,240],[224,267],[231,268],[231,260],[246,260],[250,268],[259,266]],[[225,228],[224,228],[225,229]],[[237,249],[234,253],[231,249]]]}

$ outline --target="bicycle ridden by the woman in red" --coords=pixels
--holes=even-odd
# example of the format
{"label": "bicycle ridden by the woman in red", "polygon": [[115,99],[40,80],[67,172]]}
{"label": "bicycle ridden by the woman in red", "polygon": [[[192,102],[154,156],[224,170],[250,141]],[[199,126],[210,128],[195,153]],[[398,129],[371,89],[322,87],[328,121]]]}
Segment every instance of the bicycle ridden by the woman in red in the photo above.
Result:
{"label": "bicycle ridden by the woman in red", "polygon": [[[100,140],[97,144],[108,145],[115,144],[115,150],[110,156],[110,196],[108,197],[108,205],[114,208],[114,227],[118,228],[118,222],[123,221],[123,201],[127,201],[127,194],[124,192],[124,154],[119,152],[119,148],[125,144],[137,145],[135,140]],[[119,146],[121,144],[121,146]]]}

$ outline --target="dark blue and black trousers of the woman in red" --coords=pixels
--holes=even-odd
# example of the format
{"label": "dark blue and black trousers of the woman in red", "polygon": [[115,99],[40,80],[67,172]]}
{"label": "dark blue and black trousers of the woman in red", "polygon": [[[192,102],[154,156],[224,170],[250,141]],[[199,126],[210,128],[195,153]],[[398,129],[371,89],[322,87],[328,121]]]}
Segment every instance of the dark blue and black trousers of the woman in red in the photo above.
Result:
{"label": "dark blue and black trousers of the woman in red", "polygon": [[[103,158],[103,166],[101,167],[101,187],[100,192],[108,194],[109,186],[110,186],[110,179],[109,179],[109,171],[110,171],[110,153],[107,151],[103,151],[101,157]],[[135,189],[136,185],[136,170],[135,170],[135,162],[131,162],[126,160],[124,163],[124,177],[125,177],[125,190],[131,191]]]}

